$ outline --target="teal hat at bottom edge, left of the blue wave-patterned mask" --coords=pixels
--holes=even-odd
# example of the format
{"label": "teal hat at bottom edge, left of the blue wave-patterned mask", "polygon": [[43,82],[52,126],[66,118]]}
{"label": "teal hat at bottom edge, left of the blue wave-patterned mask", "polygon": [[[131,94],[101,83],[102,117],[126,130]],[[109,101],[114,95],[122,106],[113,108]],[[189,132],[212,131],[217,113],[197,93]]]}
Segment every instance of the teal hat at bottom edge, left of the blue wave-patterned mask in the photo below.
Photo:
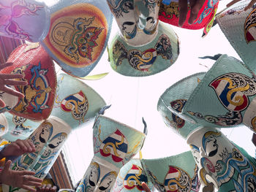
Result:
{"label": "teal hat at bottom edge, left of the blue wave-patterned mask", "polygon": [[166,158],[141,159],[141,164],[160,192],[199,191],[198,168],[190,151]]}

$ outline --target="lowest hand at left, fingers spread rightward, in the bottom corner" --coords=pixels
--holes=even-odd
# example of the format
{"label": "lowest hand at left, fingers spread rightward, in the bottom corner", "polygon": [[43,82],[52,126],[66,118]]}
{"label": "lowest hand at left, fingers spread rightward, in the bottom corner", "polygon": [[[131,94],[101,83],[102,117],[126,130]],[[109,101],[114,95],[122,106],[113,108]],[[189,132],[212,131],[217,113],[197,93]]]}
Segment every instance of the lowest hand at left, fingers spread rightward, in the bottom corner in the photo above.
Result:
{"label": "lowest hand at left, fingers spread rightward, in the bottom corner", "polygon": [[28,191],[36,192],[32,186],[39,187],[42,180],[34,177],[35,172],[29,171],[15,171],[10,169],[12,161],[7,161],[4,169],[0,173],[0,182],[5,185],[10,185],[12,187],[23,188]]}

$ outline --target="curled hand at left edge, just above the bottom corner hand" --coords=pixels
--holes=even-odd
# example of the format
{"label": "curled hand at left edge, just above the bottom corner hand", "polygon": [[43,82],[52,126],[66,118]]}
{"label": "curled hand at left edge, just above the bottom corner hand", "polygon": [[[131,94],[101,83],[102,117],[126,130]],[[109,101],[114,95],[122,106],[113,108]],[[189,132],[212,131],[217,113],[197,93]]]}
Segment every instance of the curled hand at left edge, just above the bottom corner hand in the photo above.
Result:
{"label": "curled hand at left edge, just above the bottom corner hand", "polygon": [[19,156],[23,155],[24,153],[34,153],[35,151],[36,148],[34,147],[34,144],[31,142],[31,140],[17,139],[15,142],[12,142],[4,147],[4,149],[1,151],[1,158],[7,156]]}

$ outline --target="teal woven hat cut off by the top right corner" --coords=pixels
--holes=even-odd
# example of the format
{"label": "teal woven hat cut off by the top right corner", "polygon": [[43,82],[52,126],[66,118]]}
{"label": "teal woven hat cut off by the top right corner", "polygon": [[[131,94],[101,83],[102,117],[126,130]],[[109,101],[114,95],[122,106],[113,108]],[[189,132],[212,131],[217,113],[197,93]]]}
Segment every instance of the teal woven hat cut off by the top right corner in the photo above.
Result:
{"label": "teal woven hat cut off by the top right corner", "polygon": [[217,15],[216,20],[244,64],[256,72],[255,5],[244,11],[250,1],[241,1]]}

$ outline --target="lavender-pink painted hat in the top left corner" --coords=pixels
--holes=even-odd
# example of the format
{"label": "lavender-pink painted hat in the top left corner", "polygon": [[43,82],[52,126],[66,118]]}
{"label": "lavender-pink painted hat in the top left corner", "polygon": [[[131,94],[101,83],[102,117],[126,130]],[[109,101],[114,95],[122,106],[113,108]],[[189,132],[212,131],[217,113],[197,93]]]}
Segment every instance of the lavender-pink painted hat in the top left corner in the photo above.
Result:
{"label": "lavender-pink painted hat in the top left corner", "polygon": [[43,1],[1,0],[0,35],[39,42],[48,34],[49,13]]}

